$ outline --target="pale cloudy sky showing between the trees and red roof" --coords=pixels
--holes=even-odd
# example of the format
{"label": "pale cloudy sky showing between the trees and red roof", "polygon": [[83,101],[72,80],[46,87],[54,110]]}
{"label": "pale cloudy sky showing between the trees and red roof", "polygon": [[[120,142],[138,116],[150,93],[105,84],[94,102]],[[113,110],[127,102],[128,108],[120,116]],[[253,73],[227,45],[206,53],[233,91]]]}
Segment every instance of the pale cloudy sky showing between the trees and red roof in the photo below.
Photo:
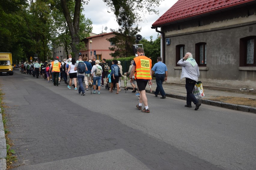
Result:
{"label": "pale cloudy sky showing between the trees and red roof", "polygon": [[[153,40],[157,38],[157,32],[155,29],[151,29],[152,24],[162,16],[173,4],[178,0],[164,0],[160,6],[156,8],[159,10],[159,15],[153,14],[145,16],[144,21],[139,23],[139,27],[142,27],[139,33],[142,37],[150,40],[150,36],[153,36]],[[105,32],[104,28],[108,27],[107,33],[111,32],[111,29],[117,29],[118,24],[116,22],[114,13],[108,13],[110,9],[105,5],[103,0],[90,0],[88,5],[84,5],[84,14],[86,18],[89,18],[93,22],[93,33],[99,34]],[[102,28],[103,27],[103,28]],[[158,28],[160,30],[160,28]]]}

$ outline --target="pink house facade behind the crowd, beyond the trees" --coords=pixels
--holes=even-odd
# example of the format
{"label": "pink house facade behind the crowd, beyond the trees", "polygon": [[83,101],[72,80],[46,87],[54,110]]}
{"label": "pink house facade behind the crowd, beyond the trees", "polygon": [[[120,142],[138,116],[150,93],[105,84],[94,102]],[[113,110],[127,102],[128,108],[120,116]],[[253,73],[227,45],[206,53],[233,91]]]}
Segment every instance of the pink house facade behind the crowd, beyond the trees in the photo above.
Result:
{"label": "pink house facade behind the crowd, beyond the trees", "polygon": [[[96,56],[96,59],[99,60],[111,59],[111,50],[108,48],[114,45],[106,39],[112,37],[114,37],[113,32],[87,37],[82,40],[85,42],[86,50],[80,50],[79,52],[81,53],[82,57],[87,57],[88,59],[92,59],[94,56]],[[91,44],[90,41],[92,41]],[[90,54],[90,51],[92,51],[92,55]],[[96,53],[94,51],[96,51]]]}

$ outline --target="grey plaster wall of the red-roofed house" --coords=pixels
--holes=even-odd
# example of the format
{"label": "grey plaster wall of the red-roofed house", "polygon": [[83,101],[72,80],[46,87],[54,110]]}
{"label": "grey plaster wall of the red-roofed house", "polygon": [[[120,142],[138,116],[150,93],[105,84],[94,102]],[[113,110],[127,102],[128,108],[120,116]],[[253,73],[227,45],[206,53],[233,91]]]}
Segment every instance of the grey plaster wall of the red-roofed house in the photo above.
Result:
{"label": "grey plaster wall of the red-roofed house", "polygon": [[[239,70],[240,39],[256,36],[256,15],[246,16],[245,9],[236,11],[232,16],[233,12],[228,11],[226,17],[221,13],[204,18],[203,27],[198,26],[202,20],[198,19],[162,28],[165,38],[170,38],[170,45],[165,45],[169,82],[180,82],[181,69],[175,67],[176,45],[185,45],[184,53],[195,55],[195,44],[206,42],[207,65],[200,70],[202,82],[207,85],[256,89],[256,67]],[[178,30],[177,25],[183,25],[184,29]]]}

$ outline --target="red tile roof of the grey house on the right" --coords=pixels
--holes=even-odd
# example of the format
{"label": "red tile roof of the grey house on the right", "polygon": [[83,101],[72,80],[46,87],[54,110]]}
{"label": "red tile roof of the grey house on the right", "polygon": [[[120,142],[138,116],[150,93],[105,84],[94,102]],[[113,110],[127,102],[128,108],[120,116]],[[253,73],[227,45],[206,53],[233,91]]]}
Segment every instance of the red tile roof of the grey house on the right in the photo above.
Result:
{"label": "red tile roof of the grey house on the right", "polygon": [[251,1],[255,0],[178,0],[166,13],[152,24],[152,27],[245,4]]}

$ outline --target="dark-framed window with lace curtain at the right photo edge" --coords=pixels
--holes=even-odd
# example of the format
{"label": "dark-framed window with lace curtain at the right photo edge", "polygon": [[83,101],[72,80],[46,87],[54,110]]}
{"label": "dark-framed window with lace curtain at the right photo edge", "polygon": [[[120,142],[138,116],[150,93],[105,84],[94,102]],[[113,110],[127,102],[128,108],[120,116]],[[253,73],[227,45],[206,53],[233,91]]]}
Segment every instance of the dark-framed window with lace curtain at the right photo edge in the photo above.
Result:
{"label": "dark-framed window with lace curtain at the right photo edge", "polygon": [[240,66],[256,66],[256,36],[240,39]]}

